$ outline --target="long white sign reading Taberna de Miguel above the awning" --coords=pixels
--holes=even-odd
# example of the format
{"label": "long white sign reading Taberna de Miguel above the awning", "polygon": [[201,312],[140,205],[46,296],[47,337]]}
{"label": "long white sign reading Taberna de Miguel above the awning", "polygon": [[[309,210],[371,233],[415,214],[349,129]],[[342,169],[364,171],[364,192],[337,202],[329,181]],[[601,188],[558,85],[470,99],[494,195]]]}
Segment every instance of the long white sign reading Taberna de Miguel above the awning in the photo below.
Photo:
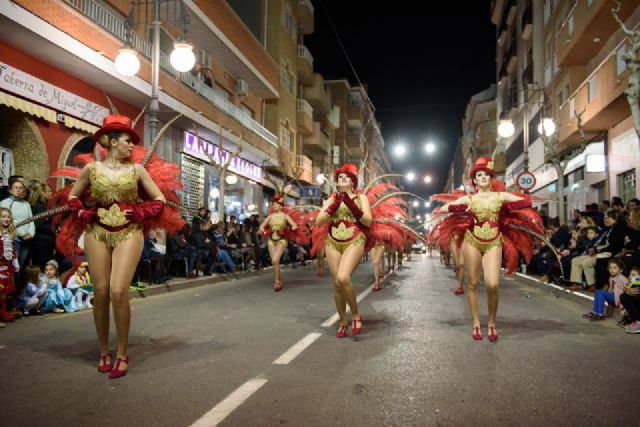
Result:
{"label": "long white sign reading Taberna de Miguel above the awning", "polygon": [[109,110],[78,95],[0,62],[0,88],[51,109],[102,125]]}

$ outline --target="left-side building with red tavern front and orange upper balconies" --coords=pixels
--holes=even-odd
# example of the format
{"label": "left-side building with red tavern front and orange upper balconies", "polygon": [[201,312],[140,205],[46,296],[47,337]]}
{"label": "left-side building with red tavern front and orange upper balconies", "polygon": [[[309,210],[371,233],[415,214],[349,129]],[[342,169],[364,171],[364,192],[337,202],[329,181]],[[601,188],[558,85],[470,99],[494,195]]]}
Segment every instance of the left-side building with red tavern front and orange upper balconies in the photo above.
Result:
{"label": "left-side building with red tavern front and orange upper balconies", "polygon": [[[0,2],[0,153],[5,175],[17,171],[46,179],[51,170],[91,150],[90,135],[111,110],[105,93],[120,113],[131,117],[149,103],[152,10],[142,5],[134,2],[132,8],[129,0]],[[282,90],[278,64],[226,2],[167,1],[159,13],[159,119],[183,115],[165,134],[159,152],[182,168],[183,202],[215,212],[222,197],[217,173],[194,140],[195,124],[217,162],[242,138],[242,152],[230,165],[235,183],[227,186],[225,210],[260,211],[262,162],[278,159],[278,137],[265,125],[264,111],[264,104]],[[178,72],[168,60],[184,29],[201,71],[211,73],[208,82],[198,73]],[[141,63],[133,76],[120,74],[114,63],[125,40]],[[148,121],[141,120],[136,130],[148,144]]]}

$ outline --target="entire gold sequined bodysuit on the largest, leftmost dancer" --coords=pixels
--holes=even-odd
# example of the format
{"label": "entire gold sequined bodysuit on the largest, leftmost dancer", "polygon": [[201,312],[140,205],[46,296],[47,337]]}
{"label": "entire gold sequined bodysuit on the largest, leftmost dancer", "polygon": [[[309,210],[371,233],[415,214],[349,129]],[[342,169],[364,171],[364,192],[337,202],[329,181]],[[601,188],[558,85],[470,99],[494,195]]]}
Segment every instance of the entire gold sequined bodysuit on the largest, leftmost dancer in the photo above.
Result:
{"label": "entire gold sequined bodysuit on the largest, leftmost dancer", "polygon": [[132,224],[126,217],[138,201],[138,175],[135,165],[130,170],[112,181],[109,175],[96,171],[96,164],[91,163],[91,196],[96,200],[98,214],[95,222],[87,226],[87,231],[104,242],[108,248],[115,248],[118,243],[127,240],[142,231],[142,225]]}

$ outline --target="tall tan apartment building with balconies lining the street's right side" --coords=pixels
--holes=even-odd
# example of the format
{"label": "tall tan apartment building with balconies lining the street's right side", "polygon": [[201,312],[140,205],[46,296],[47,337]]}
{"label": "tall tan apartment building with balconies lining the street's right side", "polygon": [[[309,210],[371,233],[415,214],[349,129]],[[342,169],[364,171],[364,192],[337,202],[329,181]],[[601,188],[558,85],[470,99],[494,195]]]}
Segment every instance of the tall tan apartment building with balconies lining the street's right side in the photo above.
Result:
{"label": "tall tan apartment building with balconies lining the street's right side", "polygon": [[[614,195],[638,196],[640,151],[624,95],[627,73],[622,60],[624,33],[608,0],[496,0],[497,117],[511,118],[515,133],[501,140],[508,186],[527,168],[536,177],[532,192],[559,206],[584,209],[587,203]],[[640,2],[624,1],[618,12],[628,28],[640,23]],[[576,155],[581,136],[586,149]],[[551,137],[559,157],[567,160],[562,179],[549,163],[538,127],[543,116],[554,119]]]}

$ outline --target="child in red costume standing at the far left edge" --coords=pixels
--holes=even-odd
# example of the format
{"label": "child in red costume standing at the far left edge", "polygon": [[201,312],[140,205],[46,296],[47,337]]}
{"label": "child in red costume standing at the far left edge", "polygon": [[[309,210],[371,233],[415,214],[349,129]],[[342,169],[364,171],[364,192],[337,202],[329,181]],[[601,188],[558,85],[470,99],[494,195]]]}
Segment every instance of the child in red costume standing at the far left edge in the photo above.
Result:
{"label": "child in red costume standing at the far left edge", "polygon": [[13,224],[13,215],[8,208],[0,208],[0,328],[3,322],[13,320],[13,315],[7,311],[7,299],[15,291],[14,273],[20,271],[20,265],[13,249],[15,233],[9,231]]}

